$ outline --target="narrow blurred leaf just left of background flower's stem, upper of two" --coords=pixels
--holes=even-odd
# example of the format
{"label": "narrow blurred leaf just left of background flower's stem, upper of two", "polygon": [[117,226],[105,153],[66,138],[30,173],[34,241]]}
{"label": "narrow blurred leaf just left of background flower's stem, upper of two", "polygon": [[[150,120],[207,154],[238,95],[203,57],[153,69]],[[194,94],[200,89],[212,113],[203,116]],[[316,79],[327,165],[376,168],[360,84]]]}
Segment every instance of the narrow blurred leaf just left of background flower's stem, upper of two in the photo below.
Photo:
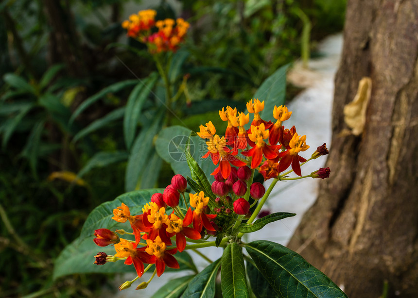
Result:
{"label": "narrow blurred leaf just left of background flower's stem, upper of two", "polygon": [[156,72],[151,73],[147,79],[135,86],[126,102],[125,116],[123,117],[123,135],[128,150],[131,148],[135,138],[142,106],[151,93],[157,79],[158,74]]}

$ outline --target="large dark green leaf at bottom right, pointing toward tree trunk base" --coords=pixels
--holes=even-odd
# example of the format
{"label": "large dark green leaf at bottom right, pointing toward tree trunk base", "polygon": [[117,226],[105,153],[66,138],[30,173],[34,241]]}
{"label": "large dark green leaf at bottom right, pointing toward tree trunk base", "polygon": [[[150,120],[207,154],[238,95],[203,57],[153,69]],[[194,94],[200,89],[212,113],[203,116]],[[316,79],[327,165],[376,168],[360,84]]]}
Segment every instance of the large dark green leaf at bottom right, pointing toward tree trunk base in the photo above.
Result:
{"label": "large dark green leaf at bottom right, pointing toward tree trunk base", "polygon": [[283,298],[348,298],[324,273],[295,251],[270,241],[245,245],[257,268]]}

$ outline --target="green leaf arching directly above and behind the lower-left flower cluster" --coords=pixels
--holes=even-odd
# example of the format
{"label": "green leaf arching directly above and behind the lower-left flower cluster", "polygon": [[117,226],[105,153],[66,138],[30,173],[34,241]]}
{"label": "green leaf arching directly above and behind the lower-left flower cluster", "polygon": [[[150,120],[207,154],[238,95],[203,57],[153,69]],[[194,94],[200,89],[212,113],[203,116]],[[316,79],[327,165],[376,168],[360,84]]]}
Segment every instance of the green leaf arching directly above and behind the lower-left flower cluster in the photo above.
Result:
{"label": "green leaf arching directly above and behind the lower-left flower cluster", "polygon": [[129,207],[132,215],[142,214],[142,207],[151,201],[151,196],[155,193],[162,193],[163,191],[164,189],[161,188],[132,191],[119,196],[113,201],[100,204],[87,216],[86,222],[81,229],[80,241],[90,237],[94,230],[100,228],[111,230],[116,228],[118,222],[112,219],[113,209],[121,206],[122,203]]}

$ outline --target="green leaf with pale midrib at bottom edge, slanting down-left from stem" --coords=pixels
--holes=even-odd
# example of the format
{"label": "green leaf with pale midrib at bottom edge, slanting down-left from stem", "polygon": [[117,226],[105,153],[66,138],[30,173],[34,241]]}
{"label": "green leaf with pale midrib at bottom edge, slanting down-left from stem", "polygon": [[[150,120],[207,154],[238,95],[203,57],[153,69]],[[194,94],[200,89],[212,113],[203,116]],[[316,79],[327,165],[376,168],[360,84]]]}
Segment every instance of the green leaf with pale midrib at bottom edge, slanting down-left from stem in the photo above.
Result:
{"label": "green leaf with pale midrib at bottom edge, slanting down-left from stem", "polygon": [[221,259],[216,260],[197,274],[189,282],[184,298],[213,298],[215,296],[216,276],[218,275]]}

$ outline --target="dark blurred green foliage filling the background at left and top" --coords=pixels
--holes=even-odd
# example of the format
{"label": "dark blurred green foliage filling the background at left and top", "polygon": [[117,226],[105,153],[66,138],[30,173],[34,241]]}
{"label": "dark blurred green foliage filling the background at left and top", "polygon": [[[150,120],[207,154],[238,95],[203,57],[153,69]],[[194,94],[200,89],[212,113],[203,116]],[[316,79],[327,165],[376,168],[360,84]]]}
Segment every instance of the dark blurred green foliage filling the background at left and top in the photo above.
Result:
{"label": "dark blurred green foliage filling the background at left and top", "polygon": [[[154,8],[157,18],[177,14],[191,23],[172,69],[174,92],[190,73],[192,102],[178,99],[171,124],[192,130],[220,107],[243,104],[279,66],[299,58],[303,22],[295,8],[309,17],[311,36],[319,39],[341,31],[346,5],[346,0],[181,2],[177,12],[166,1]],[[2,297],[97,297],[104,284],[100,276],[52,281],[51,272],[87,214],[124,192],[135,140],[151,130],[162,106],[158,98],[165,96],[160,80],[153,93],[139,90],[137,78],[151,80],[156,68],[142,44],[124,37],[122,14],[136,13],[124,12],[126,4],[132,1],[0,2]],[[135,90],[144,96],[141,116],[128,125],[124,109]],[[149,187],[165,186],[172,170],[155,159],[161,170]],[[79,174],[84,184],[48,179],[62,171]]]}

